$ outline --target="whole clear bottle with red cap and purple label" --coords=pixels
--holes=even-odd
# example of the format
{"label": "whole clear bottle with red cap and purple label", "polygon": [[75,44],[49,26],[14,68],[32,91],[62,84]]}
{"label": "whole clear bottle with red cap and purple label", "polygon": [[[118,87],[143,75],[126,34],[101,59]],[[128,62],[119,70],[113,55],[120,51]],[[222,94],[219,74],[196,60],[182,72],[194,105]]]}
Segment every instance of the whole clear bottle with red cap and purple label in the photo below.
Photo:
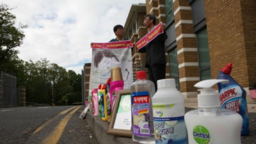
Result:
{"label": "whole clear bottle with red cap and purple label", "polygon": [[131,85],[132,140],[138,143],[155,143],[152,96],[155,85],[147,80],[146,71],[136,72]]}

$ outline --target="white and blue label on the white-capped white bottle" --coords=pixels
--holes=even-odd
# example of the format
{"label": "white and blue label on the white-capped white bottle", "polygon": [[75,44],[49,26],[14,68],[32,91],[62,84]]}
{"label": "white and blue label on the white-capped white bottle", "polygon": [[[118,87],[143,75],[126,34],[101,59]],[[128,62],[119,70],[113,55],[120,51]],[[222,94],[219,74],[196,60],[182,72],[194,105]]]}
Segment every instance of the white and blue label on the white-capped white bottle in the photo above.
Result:
{"label": "white and blue label on the white-capped white bottle", "polygon": [[187,143],[184,104],[153,104],[156,144]]}

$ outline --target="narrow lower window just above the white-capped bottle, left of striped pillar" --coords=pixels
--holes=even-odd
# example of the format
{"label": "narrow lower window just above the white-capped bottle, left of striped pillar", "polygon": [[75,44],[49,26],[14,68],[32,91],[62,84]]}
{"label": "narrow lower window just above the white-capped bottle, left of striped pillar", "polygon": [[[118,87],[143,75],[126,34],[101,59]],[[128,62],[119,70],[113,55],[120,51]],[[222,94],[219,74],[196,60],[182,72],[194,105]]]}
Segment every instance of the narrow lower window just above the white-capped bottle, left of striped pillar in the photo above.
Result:
{"label": "narrow lower window just above the white-capped bottle, left of striped pillar", "polygon": [[176,88],[180,90],[179,66],[177,60],[177,47],[169,51],[170,77],[175,79]]}

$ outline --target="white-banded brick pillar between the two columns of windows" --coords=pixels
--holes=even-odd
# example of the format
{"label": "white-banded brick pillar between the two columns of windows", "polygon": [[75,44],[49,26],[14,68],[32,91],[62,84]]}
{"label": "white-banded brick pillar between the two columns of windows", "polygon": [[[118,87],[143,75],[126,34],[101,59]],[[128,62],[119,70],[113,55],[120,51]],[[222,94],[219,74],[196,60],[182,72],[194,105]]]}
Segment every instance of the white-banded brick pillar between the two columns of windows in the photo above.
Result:
{"label": "white-banded brick pillar between the two columns of windows", "polygon": [[194,34],[193,24],[184,22],[192,20],[191,6],[188,0],[175,0],[173,10],[178,52],[180,92],[186,97],[196,97],[197,90],[194,85],[199,80],[198,54],[196,51],[187,51],[188,49],[195,49],[197,47],[196,35]]}

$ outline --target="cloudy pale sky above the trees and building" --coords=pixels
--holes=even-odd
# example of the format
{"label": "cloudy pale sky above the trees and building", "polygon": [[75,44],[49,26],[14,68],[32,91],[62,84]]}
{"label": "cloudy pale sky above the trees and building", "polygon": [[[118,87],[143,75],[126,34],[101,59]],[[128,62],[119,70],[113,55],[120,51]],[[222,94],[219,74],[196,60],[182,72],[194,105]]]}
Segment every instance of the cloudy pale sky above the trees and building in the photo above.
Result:
{"label": "cloudy pale sky above the trees and building", "polygon": [[2,0],[19,23],[28,25],[19,58],[38,61],[46,58],[66,70],[81,74],[91,63],[91,42],[115,38],[113,27],[124,26],[132,4],[145,0]]}

